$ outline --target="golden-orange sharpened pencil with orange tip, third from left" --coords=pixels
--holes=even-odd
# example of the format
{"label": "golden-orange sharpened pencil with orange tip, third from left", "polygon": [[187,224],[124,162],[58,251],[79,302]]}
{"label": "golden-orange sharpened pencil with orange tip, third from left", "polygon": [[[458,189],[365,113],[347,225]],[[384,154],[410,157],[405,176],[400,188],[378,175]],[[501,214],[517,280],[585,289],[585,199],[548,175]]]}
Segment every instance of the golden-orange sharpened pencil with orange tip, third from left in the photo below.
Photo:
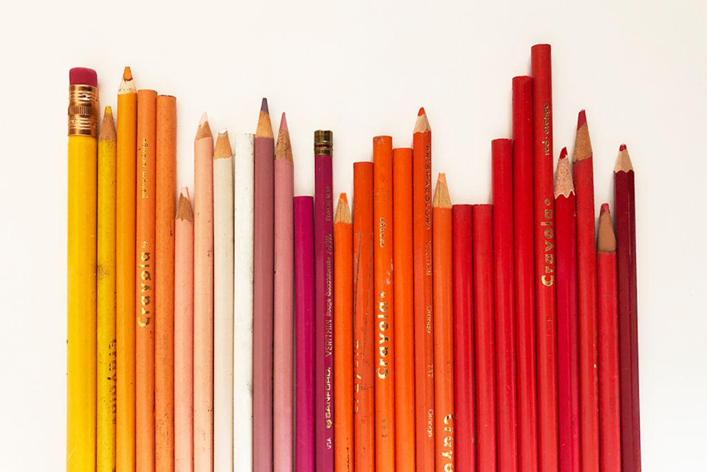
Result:
{"label": "golden-orange sharpened pencil with orange tip, third from left", "polygon": [[115,183],[115,467],[135,470],[135,172],[137,90],[126,67],[118,88]]}

